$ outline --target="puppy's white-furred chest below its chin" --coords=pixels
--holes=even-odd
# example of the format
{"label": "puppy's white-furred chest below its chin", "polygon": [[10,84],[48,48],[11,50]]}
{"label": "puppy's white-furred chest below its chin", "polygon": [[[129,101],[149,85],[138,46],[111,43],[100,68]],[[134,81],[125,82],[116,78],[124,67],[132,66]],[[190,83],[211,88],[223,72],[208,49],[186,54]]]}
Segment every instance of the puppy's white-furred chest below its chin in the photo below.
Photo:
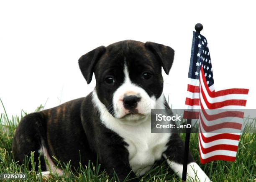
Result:
{"label": "puppy's white-furred chest below its chin", "polygon": [[113,129],[128,144],[129,163],[136,175],[144,175],[156,160],[161,159],[171,136],[169,133],[151,133],[150,120],[136,126],[115,125]]}

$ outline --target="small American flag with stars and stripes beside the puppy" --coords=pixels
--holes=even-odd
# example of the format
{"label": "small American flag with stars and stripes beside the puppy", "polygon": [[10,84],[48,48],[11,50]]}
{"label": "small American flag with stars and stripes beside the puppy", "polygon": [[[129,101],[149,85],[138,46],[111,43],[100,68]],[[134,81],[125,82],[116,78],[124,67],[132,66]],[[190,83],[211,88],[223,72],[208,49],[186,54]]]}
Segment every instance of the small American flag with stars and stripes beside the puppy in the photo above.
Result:
{"label": "small American flag with stars and stripes beside the puppy", "polygon": [[[249,91],[227,89],[215,92],[211,62],[206,38],[193,32],[184,118],[200,119],[199,151],[202,164],[212,160],[236,160],[243,123],[243,112],[238,109],[246,106]],[[225,128],[234,132],[223,133],[227,131],[223,130]]]}

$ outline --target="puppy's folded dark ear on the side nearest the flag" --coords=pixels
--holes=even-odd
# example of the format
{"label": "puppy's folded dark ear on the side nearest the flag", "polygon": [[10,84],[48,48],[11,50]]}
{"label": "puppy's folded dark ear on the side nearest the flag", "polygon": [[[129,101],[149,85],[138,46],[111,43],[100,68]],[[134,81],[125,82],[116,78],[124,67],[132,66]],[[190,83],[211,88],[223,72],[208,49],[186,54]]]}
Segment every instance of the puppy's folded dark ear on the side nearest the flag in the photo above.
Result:
{"label": "puppy's folded dark ear on the side nearest the flag", "polygon": [[169,46],[154,42],[146,42],[145,47],[156,55],[164,68],[164,72],[168,75],[174,59],[174,50]]}

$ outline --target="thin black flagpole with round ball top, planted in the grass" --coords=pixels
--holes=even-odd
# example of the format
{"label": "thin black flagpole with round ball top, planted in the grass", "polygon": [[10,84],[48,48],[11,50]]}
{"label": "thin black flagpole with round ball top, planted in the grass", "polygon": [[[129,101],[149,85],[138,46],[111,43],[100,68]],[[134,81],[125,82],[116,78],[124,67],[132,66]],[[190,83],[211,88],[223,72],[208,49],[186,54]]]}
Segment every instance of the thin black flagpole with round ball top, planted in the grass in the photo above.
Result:
{"label": "thin black flagpole with round ball top, planted in the grass", "polygon": [[[197,33],[200,33],[203,26],[201,23],[197,23],[195,25],[195,30]],[[191,119],[187,119],[187,124],[191,125]],[[184,149],[184,161],[183,161],[183,170],[182,170],[182,181],[187,180],[187,160],[188,160],[188,153],[189,153],[189,139],[190,139],[190,132],[191,128],[186,129],[186,139],[185,139],[185,149]]]}

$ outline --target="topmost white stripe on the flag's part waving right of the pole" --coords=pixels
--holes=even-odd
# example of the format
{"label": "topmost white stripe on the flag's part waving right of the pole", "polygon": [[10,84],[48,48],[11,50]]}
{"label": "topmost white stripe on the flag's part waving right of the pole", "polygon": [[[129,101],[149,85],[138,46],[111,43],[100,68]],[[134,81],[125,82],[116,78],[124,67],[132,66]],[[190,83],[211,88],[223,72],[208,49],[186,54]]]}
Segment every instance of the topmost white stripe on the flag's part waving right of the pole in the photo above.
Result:
{"label": "topmost white stripe on the flag's part waving right of the pole", "polygon": [[[215,102],[223,102],[225,100],[232,100],[232,99],[239,99],[239,100],[247,100],[247,94],[228,94],[228,95],[223,95],[223,96],[218,96],[218,97],[211,97],[208,95],[208,92],[206,90],[206,85],[203,82],[202,79],[202,74],[200,74],[200,80],[201,80],[201,87],[203,92],[205,93],[205,96],[210,103],[215,103]],[[207,86],[208,87],[208,86]]]}

